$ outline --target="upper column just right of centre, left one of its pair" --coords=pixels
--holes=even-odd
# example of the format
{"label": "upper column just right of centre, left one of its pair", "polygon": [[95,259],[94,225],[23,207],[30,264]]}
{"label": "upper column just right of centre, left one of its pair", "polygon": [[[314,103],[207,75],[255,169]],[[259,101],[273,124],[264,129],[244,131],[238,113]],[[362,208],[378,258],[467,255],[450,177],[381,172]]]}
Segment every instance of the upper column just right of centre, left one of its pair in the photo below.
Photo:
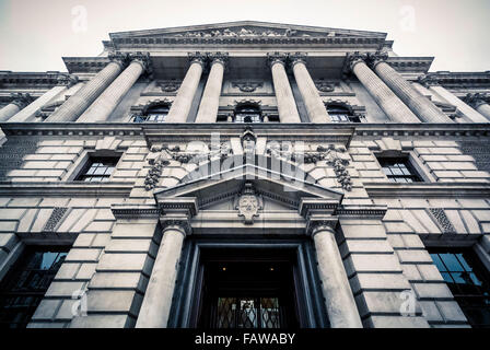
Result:
{"label": "upper column just right of centre, left one of its pair", "polygon": [[272,71],[273,90],[278,102],[279,120],[281,122],[301,122],[293,92],[285,73],[285,58],[284,55],[268,55]]}

